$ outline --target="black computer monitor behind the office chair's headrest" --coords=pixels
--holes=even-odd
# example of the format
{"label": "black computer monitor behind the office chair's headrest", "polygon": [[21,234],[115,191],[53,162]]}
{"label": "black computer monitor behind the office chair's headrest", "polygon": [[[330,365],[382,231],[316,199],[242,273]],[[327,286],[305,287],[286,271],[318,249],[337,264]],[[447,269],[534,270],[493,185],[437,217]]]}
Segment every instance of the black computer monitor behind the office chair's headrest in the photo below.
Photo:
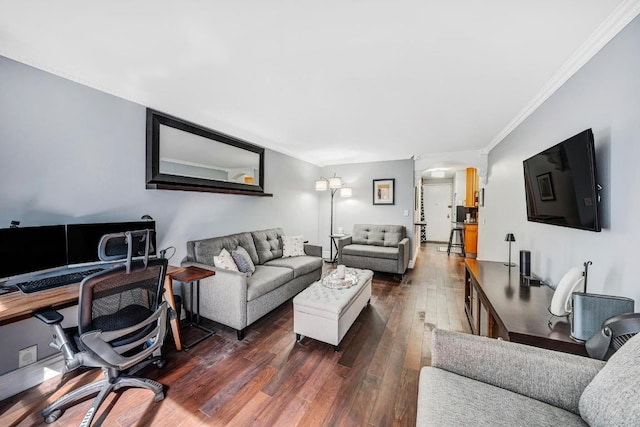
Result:
{"label": "black computer monitor behind the office chair's headrest", "polygon": [[[136,231],[150,229],[151,243],[149,255],[156,254],[156,222],[155,221],[131,221],[131,222],[105,222],[92,224],[68,224],[67,225],[67,260],[69,265],[94,263],[100,261],[98,257],[98,243],[105,234],[120,233],[124,231]],[[134,256],[144,255],[144,242],[138,242],[138,251]]]}

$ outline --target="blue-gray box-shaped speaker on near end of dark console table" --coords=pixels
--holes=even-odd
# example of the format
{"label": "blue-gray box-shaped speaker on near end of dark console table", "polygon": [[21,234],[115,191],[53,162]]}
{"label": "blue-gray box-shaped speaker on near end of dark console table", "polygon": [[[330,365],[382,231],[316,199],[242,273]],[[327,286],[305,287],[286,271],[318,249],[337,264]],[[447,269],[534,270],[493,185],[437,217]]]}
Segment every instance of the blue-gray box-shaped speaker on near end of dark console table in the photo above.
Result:
{"label": "blue-gray box-shaped speaker on near end of dark console table", "polygon": [[586,341],[600,331],[610,317],[633,313],[631,298],[574,292],[571,295],[571,338]]}

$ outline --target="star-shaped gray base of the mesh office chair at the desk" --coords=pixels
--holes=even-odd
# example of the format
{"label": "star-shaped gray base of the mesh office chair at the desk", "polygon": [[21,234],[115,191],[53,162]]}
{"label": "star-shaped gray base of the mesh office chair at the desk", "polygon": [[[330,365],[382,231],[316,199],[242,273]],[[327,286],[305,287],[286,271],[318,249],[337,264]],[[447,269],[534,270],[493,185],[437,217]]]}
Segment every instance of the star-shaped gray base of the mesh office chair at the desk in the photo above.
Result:
{"label": "star-shaped gray base of the mesh office chair at the desk", "polygon": [[[159,365],[158,362],[161,362],[161,360],[163,359],[153,358],[149,360],[149,363],[156,363]],[[117,391],[123,387],[146,388],[155,393],[154,400],[156,402],[160,402],[164,399],[164,387],[157,381],[149,378],[131,377],[127,375],[118,376],[118,371],[115,369],[103,368],[103,372],[105,374],[105,378],[73,390],[44,408],[41,412],[44,422],[47,424],[55,422],[60,418],[65,409],[97,394],[98,396],[96,396],[93,404],[80,423],[80,426],[90,426],[93,418],[98,412],[98,408],[109,393]]]}

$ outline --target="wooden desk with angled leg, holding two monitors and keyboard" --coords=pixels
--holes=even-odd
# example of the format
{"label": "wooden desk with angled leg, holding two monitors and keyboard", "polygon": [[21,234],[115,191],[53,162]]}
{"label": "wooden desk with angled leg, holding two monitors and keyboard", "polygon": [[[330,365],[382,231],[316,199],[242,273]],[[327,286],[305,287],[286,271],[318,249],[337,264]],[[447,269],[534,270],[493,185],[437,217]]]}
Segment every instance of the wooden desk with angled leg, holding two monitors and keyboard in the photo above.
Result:
{"label": "wooden desk with angled leg, holding two monitors and keyboard", "polygon": [[[167,268],[165,277],[165,300],[169,306],[175,311],[176,305],[173,300],[173,286],[169,279],[171,274],[183,271],[182,267],[174,267],[170,265]],[[20,291],[11,292],[0,295],[0,326],[8,323],[18,322],[20,320],[29,319],[38,310],[43,308],[61,309],[78,305],[78,296],[80,294],[80,284],[62,286],[59,288],[49,289],[46,291],[35,292],[25,295]],[[179,319],[171,320],[171,330],[173,331],[173,339],[176,349],[181,350]]]}

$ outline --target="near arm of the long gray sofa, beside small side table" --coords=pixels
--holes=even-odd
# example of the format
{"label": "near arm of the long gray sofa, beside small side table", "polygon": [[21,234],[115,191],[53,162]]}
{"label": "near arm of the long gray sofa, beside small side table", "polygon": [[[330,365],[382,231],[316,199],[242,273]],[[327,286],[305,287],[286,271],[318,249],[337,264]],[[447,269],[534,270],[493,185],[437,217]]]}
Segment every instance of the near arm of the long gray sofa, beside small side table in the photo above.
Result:
{"label": "near arm of the long gray sofa, beside small side table", "polygon": [[236,330],[247,327],[247,276],[244,273],[193,261],[183,261],[181,265],[193,265],[216,272],[215,276],[202,279],[200,284],[203,295],[200,311],[204,317]]}

